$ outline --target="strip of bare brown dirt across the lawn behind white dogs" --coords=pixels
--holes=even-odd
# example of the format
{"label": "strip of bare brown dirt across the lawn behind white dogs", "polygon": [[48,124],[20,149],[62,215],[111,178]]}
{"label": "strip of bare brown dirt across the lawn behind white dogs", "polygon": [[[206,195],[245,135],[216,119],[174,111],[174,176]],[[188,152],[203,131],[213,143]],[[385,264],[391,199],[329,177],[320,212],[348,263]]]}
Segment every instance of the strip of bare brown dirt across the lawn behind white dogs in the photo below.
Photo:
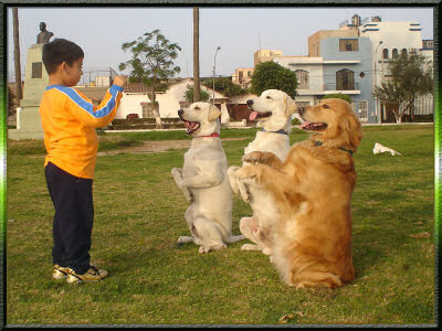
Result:
{"label": "strip of bare brown dirt across the lawn behind white dogs", "polygon": [[[248,138],[245,137],[222,138],[221,141],[244,140],[244,139]],[[101,157],[101,156],[115,156],[119,153],[158,153],[158,152],[166,152],[171,149],[189,148],[191,142],[192,142],[191,140],[145,141],[140,146],[133,146],[106,152],[98,152],[97,154]]]}

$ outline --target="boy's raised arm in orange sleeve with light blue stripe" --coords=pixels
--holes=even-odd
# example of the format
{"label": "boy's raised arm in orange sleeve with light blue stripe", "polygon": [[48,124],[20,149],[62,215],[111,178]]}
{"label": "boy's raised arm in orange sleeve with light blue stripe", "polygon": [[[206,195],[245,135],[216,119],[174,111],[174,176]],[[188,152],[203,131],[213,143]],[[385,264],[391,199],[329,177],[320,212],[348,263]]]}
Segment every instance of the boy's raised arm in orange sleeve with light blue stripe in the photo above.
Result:
{"label": "boy's raised arm in orange sleeve with light blue stripe", "polygon": [[112,85],[98,106],[94,106],[90,98],[82,93],[70,88],[67,109],[71,115],[86,126],[104,127],[115,117],[123,96],[123,87]]}

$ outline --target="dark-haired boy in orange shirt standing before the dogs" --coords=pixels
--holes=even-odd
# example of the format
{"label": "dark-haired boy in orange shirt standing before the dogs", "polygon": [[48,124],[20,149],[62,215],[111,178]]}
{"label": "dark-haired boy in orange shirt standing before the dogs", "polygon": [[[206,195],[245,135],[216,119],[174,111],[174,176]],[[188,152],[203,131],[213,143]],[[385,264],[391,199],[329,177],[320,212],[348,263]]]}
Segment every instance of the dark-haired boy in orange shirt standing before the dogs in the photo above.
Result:
{"label": "dark-haired boy in orange shirt standing before the dogs", "polygon": [[98,107],[72,88],[82,76],[84,53],[75,43],[55,39],[43,46],[49,74],[40,116],[48,156],[48,190],[54,204],[53,278],[95,281],[106,270],[90,265],[94,206],[92,183],[98,149],[96,127],[108,125],[119,107],[125,78],[115,77]]}

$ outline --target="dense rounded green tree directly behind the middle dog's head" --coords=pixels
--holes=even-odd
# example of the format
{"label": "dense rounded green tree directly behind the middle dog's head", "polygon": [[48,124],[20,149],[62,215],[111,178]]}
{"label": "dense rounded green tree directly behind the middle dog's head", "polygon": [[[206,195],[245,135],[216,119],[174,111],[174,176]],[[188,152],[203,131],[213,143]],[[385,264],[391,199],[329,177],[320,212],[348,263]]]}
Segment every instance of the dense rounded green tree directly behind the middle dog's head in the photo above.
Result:
{"label": "dense rounded green tree directly behind the middle dog's head", "polygon": [[273,61],[256,65],[252,76],[251,92],[256,95],[260,95],[265,89],[280,89],[288,94],[292,98],[295,98],[297,96],[297,87],[298,83],[295,72]]}

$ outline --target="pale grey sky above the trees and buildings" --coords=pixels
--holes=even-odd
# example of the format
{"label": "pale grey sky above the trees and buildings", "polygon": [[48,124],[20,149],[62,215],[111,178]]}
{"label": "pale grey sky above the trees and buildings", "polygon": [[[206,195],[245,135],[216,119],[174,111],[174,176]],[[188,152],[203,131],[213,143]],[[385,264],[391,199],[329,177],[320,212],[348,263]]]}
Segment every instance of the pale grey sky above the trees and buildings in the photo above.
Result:
{"label": "pale grey sky above the trees and buildings", "polygon": [[[193,19],[191,7],[19,7],[21,67],[28,49],[36,43],[40,22],[54,38],[78,44],[85,58],[83,68],[112,67],[130,58],[122,44],[145,32],[159,29],[182,50],[176,60],[179,77],[193,76]],[[253,54],[260,49],[281,50],[284,55],[307,55],[308,36],[318,30],[335,30],[354,14],[361,19],[379,15],[382,22],[418,21],[422,38],[433,39],[431,7],[232,7],[200,8],[200,76],[230,76],[238,67],[253,67]],[[8,8],[8,73],[13,72],[12,10]],[[51,40],[53,40],[51,39]]]}

